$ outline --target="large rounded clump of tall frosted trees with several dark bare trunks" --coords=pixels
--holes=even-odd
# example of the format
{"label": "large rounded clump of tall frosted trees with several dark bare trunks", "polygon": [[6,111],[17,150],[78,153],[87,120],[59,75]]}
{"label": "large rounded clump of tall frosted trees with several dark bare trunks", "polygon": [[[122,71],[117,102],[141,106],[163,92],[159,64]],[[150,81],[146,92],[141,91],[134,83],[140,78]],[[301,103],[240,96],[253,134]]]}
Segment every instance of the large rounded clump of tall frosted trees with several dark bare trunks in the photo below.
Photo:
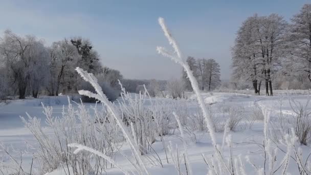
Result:
{"label": "large rounded clump of tall frosted trees with several dark bare trunks", "polygon": [[282,16],[255,14],[243,22],[237,33],[232,54],[233,77],[251,81],[255,94],[260,92],[261,80],[264,80],[265,94],[269,95],[270,89],[270,95],[273,95],[272,81],[285,56],[286,28]]}

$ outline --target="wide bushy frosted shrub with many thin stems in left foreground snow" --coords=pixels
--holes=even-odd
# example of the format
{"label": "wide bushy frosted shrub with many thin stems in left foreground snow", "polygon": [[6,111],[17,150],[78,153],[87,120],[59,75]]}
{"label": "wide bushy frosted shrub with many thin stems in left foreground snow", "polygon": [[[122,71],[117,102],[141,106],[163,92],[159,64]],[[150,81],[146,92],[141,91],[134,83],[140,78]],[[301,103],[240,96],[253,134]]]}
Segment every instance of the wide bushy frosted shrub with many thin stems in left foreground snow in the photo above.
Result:
{"label": "wide bushy frosted shrub with many thin stems in left foreground snow", "polygon": [[94,115],[90,115],[82,103],[74,107],[70,99],[68,101],[68,108],[63,108],[61,117],[53,117],[53,108],[43,105],[47,128],[43,128],[40,119],[36,117],[27,114],[28,119],[22,118],[38,142],[38,151],[34,156],[40,171],[45,173],[60,166],[65,172],[72,171],[73,174],[99,174],[109,167],[105,159],[93,156],[90,152],[74,154],[68,144],[75,142],[91,146],[113,158],[116,146],[112,143],[118,145],[123,137],[119,135],[116,123],[104,107],[102,111],[93,107]]}

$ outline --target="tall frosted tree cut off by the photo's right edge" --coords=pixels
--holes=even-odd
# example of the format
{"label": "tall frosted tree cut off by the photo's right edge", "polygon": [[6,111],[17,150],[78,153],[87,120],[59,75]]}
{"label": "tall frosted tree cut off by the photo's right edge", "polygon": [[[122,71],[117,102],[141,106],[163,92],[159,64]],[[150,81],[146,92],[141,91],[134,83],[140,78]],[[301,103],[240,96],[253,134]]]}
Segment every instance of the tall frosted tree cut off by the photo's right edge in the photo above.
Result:
{"label": "tall frosted tree cut off by the photo's right edge", "polygon": [[295,62],[295,72],[305,72],[311,81],[311,4],[303,5],[300,12],[291,19],[290,53]]}

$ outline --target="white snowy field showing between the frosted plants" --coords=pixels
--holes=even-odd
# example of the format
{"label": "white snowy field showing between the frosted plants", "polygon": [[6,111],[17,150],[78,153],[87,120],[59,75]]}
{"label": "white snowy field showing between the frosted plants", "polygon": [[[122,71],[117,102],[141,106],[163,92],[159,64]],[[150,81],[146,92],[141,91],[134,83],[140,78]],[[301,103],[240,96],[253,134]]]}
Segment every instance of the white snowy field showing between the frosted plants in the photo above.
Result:
{"label": "white snowy field showing between the frosted plants", "polygon": [[[268,130],[275,129],[276,126],[279,126],[278,121],[280,118],[280,109],[282,108],[283,117],[293,117],[295,116],[293,108],[291,107],[288,97],[283,95],[277,95],[274,97],[265,97],[265,96],[254,96],[246,94],[236,94],[236,93],[205,93],[203,94],[205,103],[210,106],[210,113],[213,116],[213,121],[216,128],[216,140],[217,144],[220,147],[223,146],[224,140],[224,125],[226,121],[230,118],[236,123],[231,130],[226,134],[227,136],[231,135],[232,137],[232,149],[229,151],[228,146],[224,146],[223,151],[226,158],[230,157],[230,152],[234,160],[239,160],[243,162],[243,166],[247,172],[254,172],[254,168],[246,160],[246,156],[251,162],[259,167],[264,167],[264,151],[261,148],[261,144],[264,140],[264,122],[263,118],[260,117],[261,109],[265,109],[270,112],[270,124]],[[134,95],[131,96],[135,99]],[[302,105],[306,105],[308,101],[307,95],[291,95],[291,98],[295,99],[297,102],[300,102]],[[122,99],[119,99],[122,101]],[[33,155],[37,154],[38,142],[34,138],[33,134],[29,129],[24,127],[23,122],[19,116],[26,116],[27,112],[32,117],[37,117],[41,119],[41,126],[44,129],[44,132],[47,136],[53,138],[55,133],[53,129],[48,127],[48,124],[45,122],[46,116],[43,115],[43,108],[40,103],[45,105],[51,105],[53,107],[52,115],[55,117],[61,117],[63,110],[68,109],[68,102],[66,96],[59,97],[42,97],[40,99],[26,99],[26,100],[13,100],[9,101],[7,104],[1,103],[0,106],[0,142],[3,144],[3,147],[0,149],[0,158],[2,158],[3,166],[11,167],[8,171],[4,171],[4,174],[9,173],[9,171],[14,172],[14,168],[23,167],[24,171],[29,172],[31,169]],[[193,115],[201,115],[198,108],[195,96],[190,96],[187,100],[171,100],[163,98],[154,98],[154,99],[145,99],[143,100],[144,106],[150,106],[160,102],[164,105],[169,105],[169,112],[176,112],[180,115],[185,135],[186,148],[188,152],[190,167],[193,171],[193,174],[207,174],[210,169],[205,163],[202,156],[205,155],[207,159],[211,158],[214,155],[214,148],[211,142],[211,138],[208,134],[206,128],[194,129],[193,127],[197,126],[194,122],[189,123],[194,118],[190,117]],[[94,103],[86,103],[85,108],[90,112],[90,116],[94,116]],[[114,104],[117,108],[120,107],[118,102]],[[73,103],[74,109],[78,110],[79,106]],[[93,106],[93,107],[92,107]],[[308,106],[307,106],[308,107]],[[101,105],[97,105],[98,111],[102,110]],[[183,116],[184,115],[184,116]],[[163,136],[164,142],[161,141],[160,136],[156,136],[154,143],[152,143],[152,149],[148,149],[147,154],[142,156],[142,160],[146,165],[150,174],[179,174],[174,166],[173,159],[170,155],[174,155],[174,150],[178,149],[179,154],[183,155],[185,151],[183,146],[183,141],[181,138],[181,133],[179,127],[176,125],[176,121],[172,115],[170,120],[170,129],[168,133]],[[257,117],[257,118],[256,118]],[[290,117],[290,118],[291,118]],[[286,117],[284,117],[286,118]],[[92,129],[92,128],[91,128]],[[290,128],[287,128],[290,130]],[[276,143],[276,139],[273,139],[275,135],[274,132],[269,132],[269,138],[274,140],[275,145],[278,148],[278,155],[276,164],[280,163],[280,159],[283,159],[285,156],[282,152],[286,150],[286,147],[282,146],[281,143]],[[278,135],[280,137],[280,135]],[[282,136],[281,136],[282,137]],[[113,154],[113,159],[121,166],[123,169],[128,171],[135,171],[135,168],[122,156],[123,154],[131,157],[131,151],[128,144],[123,141],[118,143],[119,150],[115,150]],[[168,149],[169,145],[172,146],[172,150]],[[306,160],[307,155],[309,154],[309,147],[305,145],[299,145],[302,148],[304,161]],[[164,149],[165,147],[165,149]],[[6,149],[12,157],[8,156],[3,149]],[[176,149],[177,148],[177,149]],[[74,149],[73,149],[74,150]],[[20,157],[21,156],[21,157]],[[182,160],[180,163],[180,171],[182,174],[186,174],[184,158],[181,156]],[[292,158],[294,159],[294,158]],[[294,160],[290,159],[290,166],[288,167],[288,172],[292,174],[299,173],[297,164]],[[20,161],[22,160],[22,161]],[[130,158],[132,160],[132,158]],[[161,161],[160,161],[161,160]],[[15,162],[16,161],[16,162]],[[161,162],[161,163],[160,163]],[[56,170],[48,173],[49,175],[54,174],[69,174],[68,168],[64,168],[63,163],[59,162],[59,167]],[[162,164],[162,165],[161,165]],[[162,167],[163,166],[163,167]],[[268,165],[266,165],[268,166]],[[278,165],[276,165],[278,166]],[[3,168],[3,167],[2,167]],[[36,168],[39,168],[39,163],[37,160],[33,160],[32,173],[39,173]],[[267,168],[268,169],[268,168]],[[65,172],[66,171],[66,172]],[[70,169],[69,171],[72,171]],[[0,172],[1,174],[1,172]],[[96,173],[94,173],[96,174]],[[123,174],[118,168],[107,166],[104,168],[102,174]],[[237,173],[238,174],[238,173]],[[241,173],[242,174],[242,173]],[[276,173],[279,174],[279,173]]]}

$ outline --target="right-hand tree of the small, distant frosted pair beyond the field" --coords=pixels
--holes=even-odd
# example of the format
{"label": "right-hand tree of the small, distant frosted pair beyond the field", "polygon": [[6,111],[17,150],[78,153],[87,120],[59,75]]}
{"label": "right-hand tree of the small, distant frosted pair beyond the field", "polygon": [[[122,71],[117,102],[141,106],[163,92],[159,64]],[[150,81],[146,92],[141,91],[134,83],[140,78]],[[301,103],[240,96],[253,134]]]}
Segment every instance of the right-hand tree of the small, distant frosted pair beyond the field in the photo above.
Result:
{"label": "right-hand tree of the small, distant frosted pair beyond the field", "polygon": [[220,65],[214,59],[206,61],[206,78],[208,90],[214,90],[220,85]]}

